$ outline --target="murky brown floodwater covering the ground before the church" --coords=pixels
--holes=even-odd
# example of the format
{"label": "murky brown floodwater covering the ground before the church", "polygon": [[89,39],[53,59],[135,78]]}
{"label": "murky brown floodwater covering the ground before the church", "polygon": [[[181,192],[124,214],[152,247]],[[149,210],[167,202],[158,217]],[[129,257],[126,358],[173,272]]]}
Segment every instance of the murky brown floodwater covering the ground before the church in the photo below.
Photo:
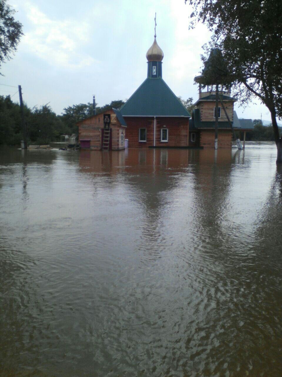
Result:
{"label": "murky brown floodwater covering the ground before the church", "polygon": [[282,376],[282,170],[0,149],[0,375]]}

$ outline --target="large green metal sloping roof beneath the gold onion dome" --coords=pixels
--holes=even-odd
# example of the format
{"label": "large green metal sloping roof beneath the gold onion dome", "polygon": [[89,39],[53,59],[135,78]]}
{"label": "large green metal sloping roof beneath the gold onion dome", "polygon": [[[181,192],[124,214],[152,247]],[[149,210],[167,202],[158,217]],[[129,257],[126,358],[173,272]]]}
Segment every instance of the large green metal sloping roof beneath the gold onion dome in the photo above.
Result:
{"label": "large green metal sloping roof beneath the gold onion dome", "polygon": [[123,116],[191,116],[162,77],[147,77],[120,112]]}

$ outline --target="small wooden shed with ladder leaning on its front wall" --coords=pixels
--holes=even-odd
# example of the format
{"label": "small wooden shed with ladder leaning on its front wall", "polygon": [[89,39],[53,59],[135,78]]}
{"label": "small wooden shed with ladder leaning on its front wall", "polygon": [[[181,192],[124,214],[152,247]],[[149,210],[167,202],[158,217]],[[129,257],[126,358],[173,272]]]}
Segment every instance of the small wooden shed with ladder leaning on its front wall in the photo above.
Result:
{"label": "small wooden shed with ladder leaning on its front wall", "polygon": [[[108,117],[109,127],[104,118]],[[121,150],[125,149],[125,130],[127,124],[119,110],[106,110],[76,123],[81,149]]]}

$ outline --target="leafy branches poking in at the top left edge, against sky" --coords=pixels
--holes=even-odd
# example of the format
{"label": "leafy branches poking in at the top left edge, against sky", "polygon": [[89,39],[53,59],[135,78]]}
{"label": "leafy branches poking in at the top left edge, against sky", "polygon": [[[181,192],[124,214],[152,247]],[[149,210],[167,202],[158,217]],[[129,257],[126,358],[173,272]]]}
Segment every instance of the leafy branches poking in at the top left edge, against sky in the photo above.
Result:
{"label": "leafy branches poking in at the top left edge, against sky", "polygon": [[5,60],[11,59],[11,54],[16,51],[20,37],[23,35],[23,25],[15,21],[14,13],[15,10],[6,0],[0,0],[0,67]]}

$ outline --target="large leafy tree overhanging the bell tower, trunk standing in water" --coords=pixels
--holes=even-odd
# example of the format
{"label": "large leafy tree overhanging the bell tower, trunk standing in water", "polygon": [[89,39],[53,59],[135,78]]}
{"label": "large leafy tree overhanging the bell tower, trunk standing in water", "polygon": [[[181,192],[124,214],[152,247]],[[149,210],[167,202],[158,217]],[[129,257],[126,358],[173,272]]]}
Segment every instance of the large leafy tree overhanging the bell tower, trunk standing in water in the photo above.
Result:
{"label": "large leafy tree overhanging the bell tower, trunk standing in water", "polygon": [[277,163],[282,138],[282,2],[276,0],[186,0],[193,6],[191,26],[202,21],[213,32],[210,48],[220,48],[241,103],[257,97],[271,114]]}

